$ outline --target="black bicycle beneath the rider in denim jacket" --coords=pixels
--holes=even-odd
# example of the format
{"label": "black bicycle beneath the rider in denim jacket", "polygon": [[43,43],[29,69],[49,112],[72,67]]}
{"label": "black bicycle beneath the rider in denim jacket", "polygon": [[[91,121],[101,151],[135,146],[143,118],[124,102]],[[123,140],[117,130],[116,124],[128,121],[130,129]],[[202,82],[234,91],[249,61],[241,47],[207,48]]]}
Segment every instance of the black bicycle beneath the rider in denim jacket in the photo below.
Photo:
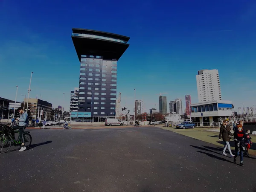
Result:
{"label": "black bicycle beneath the rider in denim jacket", "polygon": [[[12,137],[11,131],[12,131],[11,124],[4,125],[3,130],[0,131],[0,153],[6,153],[7,151],[9,151],[12,144],[15,146],[22,144],[20,135],[18,136],[18,139],[15,140],[15,138]],[[19,131],[15,130],[14,133],[19,134]],[[29,148],[32,142],[32,137],[29,133],[30,131],[23,132],[23,138],[25,140],[24,143],[26,148]]]}

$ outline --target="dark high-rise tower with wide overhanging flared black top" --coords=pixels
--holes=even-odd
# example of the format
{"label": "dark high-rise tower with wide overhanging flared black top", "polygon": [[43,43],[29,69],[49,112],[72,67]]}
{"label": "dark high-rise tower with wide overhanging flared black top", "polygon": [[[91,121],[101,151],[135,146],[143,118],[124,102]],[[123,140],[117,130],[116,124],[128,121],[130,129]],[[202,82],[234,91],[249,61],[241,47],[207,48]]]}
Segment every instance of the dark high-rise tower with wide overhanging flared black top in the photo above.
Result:
{"label": "dark high-rise tower with wide overhanging flared black top", "polygon": [[80,62],[78,111],[71,117],[102,121],[115,116],[117,61],[129,37],[88,29],[72,29]]}

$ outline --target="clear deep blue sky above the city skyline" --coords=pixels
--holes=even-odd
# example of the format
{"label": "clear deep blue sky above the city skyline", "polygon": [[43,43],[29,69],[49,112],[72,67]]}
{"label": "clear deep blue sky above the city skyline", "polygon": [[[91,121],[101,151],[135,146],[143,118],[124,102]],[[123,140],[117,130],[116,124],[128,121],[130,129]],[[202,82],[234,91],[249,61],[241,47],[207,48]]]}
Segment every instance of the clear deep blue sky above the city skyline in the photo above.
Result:
{"label": "clear deep blue sky above the city skyline", "polygon": [[[69,108],[79,84],[72,28],[129,36],[118,61],[122,106],[143,99],[146,111],[190,94],[198,102],[196,74],[218,69],[222,98],[235,108],[256,105],[256,2],[253,0],[0,1],[0,97],[38,95]],[[63,93],[65,97],[63,99]],[[158,108],[158,106],[157,106]]]}

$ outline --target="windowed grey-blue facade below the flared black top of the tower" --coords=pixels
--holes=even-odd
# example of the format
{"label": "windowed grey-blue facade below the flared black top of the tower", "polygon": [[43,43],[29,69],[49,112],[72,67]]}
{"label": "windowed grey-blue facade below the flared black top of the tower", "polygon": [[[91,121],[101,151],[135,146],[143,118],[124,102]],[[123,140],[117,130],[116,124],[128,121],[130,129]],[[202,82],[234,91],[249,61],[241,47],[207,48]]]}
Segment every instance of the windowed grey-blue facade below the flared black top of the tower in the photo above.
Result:
{"label": "windowed grey-blue facade below the flared black top of the tower", "polygon": [[78,111],[114,116],[117,62],[98,55],[81,56]]}

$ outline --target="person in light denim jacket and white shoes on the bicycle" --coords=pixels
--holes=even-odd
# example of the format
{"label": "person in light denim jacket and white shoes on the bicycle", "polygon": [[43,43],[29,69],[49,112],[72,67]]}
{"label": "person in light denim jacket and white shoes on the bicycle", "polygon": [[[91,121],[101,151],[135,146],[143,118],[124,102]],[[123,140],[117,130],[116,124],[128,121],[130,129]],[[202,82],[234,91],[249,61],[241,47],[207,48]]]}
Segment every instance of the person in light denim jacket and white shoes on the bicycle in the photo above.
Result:
{"label": "person in light denim jacket and white shoes on the bicycle", "polygon": [[16,118],[19,121],[19,123],[18,125],[12,127],[12,137],[15,138],[14,130],[18,129],[20,132],[20,138],[22,141],[21,148],[19,151],[24,151],[26,149],[26,146],[25,146],[25,140],[23,137],[23,132],[24,132],[24,129],[26,128],[26,125],[29,123],[29,116],[28,116],[28,113],[23,111],[22,108],[17,108],[17,111],[20,113],[20,117]]}

